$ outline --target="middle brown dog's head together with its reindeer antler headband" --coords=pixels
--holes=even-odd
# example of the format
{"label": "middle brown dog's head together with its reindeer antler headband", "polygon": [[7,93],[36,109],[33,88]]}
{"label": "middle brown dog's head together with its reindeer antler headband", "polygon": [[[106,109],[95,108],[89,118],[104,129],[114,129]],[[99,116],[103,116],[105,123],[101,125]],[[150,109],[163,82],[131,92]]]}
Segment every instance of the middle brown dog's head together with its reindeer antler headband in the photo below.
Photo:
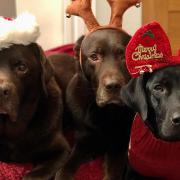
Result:
{"label": "middle brown dog's head together with its reindeer antler headband", "polygon": [[122,30],[122,17],[128,8],[139,7],[140,3],[139,0],[107,2],[111,17],[109,24],[103,26],[93,14],[91,0],[72,1],[66,8],[67,17],[80,16],[89,30],[82,41],[79,58],[81,70],[91,83],[100,107],[122,104],[120,89],[129,80],[124,66],[124,52],[130,40],[130,36]]}

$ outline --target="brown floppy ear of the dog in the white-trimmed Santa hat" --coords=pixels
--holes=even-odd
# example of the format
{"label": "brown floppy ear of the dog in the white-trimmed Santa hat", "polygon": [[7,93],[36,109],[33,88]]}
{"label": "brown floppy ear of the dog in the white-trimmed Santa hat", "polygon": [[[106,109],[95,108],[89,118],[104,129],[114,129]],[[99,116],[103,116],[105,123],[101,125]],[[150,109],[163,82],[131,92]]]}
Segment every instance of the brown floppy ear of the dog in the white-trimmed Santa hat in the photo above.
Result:
{"label": "brown floppy ear of the dog in the white-trimmed Santa hat", "polygon": [[38,44],[32,43],[30,46],[31,48],[33,48],[35,56],[37,60],[40,62],[43,92],[45,93],[45,95],[48,95],[47,84],[49,83],[50,79],[54,76],[53,66],[45,56],[45,53],[42,50],[42,48]]}

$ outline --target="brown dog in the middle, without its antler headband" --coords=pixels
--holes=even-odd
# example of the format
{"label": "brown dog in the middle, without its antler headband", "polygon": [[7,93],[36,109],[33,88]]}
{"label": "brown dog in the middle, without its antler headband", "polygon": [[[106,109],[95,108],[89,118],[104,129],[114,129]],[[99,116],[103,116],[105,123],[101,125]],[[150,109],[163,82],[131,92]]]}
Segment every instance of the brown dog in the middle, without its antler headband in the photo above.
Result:
{"label": "brown dog in the middle, without its antler headband", "polygon": [[121,179],[134,116],[120,97],[121,87],[130,79],[124,58],[129,39],[125,32],[113,29],[97,30],[83,39],[81,69],[66,91],[77,139],[57,180],[73,179],[82,163],[98,155],[106,157],[104,179]]}

